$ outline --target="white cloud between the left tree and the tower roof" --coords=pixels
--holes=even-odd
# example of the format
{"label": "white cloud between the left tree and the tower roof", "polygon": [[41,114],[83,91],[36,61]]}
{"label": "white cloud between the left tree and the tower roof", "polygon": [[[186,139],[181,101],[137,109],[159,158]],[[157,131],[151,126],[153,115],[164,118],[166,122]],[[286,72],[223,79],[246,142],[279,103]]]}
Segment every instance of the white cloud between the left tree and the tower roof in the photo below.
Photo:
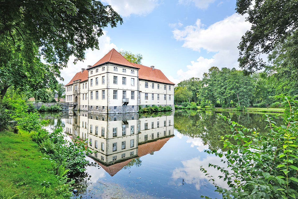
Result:
{"label": "white cloud between the left tree and the tower roof", "polygon": [[111,38],[107,35],[106,31],[104,31],[104,34],[98,38],[98,41],[99,50],[87,49],[85,51],[84,62],[77,62],[76,64],[74,64],[73,61],[75,57],[70,56],[67,68],[63,68],[61,70],[61,77],[64,78],[63,84],[67,84],[77,72],[81,71],[81,68],[87,68],[88,65],[92,66],[112,48],[117,49],[116,45],[111,43]]}

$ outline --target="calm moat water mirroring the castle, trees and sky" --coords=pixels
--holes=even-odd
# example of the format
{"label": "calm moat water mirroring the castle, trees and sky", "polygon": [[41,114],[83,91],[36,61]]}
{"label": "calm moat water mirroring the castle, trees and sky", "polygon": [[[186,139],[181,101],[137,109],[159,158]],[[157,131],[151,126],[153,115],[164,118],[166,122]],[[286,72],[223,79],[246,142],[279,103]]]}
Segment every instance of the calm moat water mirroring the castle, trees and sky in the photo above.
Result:
{"label": "calm moat water mirroring the castle, trees and sky", "polygon": [[[221,198],[214,192],[204,166],[214,177],[221,165],[218,157],[205,149],[219,149],[220,136],[230,133],[229,125],[214,111],[176,111],[154,115],[94,114],[61,112],[44,114],[48,128],[62,126],[68,137],[88,140],[94,151],[86,157],[96,166],[88,166],[85,178],[77,184],[77,196],[97,198]],[[228,113],[246,127],[266,133],[264,114]],[[277,123],[282,118],[270,115]],[[216,179],[222,187],[226,184]]]}

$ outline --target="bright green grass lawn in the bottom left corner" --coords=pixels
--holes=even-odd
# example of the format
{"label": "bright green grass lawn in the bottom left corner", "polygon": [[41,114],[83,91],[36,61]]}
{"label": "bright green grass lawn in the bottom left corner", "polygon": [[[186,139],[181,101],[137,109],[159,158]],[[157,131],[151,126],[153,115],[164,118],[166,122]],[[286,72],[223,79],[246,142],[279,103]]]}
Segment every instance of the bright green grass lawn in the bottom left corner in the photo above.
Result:
{"label": "bright green grass lawn in the bottom left corner", "polygon": [[54,164],[39,151],[28,132],[0,132],[0,186],[5,189],[0,191],[0,198],[15,194],[14,199],[67,198]]}

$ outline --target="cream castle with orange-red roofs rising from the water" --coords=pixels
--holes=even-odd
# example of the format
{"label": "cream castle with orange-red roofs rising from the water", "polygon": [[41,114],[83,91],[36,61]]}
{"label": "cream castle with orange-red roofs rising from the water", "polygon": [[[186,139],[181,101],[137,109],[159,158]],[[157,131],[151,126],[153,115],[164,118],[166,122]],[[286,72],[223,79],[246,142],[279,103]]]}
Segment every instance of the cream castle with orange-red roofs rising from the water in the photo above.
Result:
{"label": "cream castle with orange-red roofs rising from the water", "polygon": [[174,109],[174,83],[154,66],[131,63],[115,49],[65,85],[65,100],[76,110],[134,113],[138,106]]}

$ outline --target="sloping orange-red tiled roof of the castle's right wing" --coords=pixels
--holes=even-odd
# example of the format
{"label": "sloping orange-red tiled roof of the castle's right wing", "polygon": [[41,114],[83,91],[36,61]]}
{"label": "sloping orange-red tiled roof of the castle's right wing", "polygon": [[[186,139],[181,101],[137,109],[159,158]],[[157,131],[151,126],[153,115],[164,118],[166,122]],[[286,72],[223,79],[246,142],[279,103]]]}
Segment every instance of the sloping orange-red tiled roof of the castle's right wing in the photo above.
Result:
{"label": "sloping orange-red tiled roof of the castle's right wing", "polygon": [[131,63],[131,64],[139,68],[138,70],[139,79],[157,81],[157,82],[167,83],[167,84],[174,84],[173,82],[169,81],[169,79],[165,76],[163,72],[161,72],[161,70],[152,69],[151,67],[147,67],[137,63]]}

